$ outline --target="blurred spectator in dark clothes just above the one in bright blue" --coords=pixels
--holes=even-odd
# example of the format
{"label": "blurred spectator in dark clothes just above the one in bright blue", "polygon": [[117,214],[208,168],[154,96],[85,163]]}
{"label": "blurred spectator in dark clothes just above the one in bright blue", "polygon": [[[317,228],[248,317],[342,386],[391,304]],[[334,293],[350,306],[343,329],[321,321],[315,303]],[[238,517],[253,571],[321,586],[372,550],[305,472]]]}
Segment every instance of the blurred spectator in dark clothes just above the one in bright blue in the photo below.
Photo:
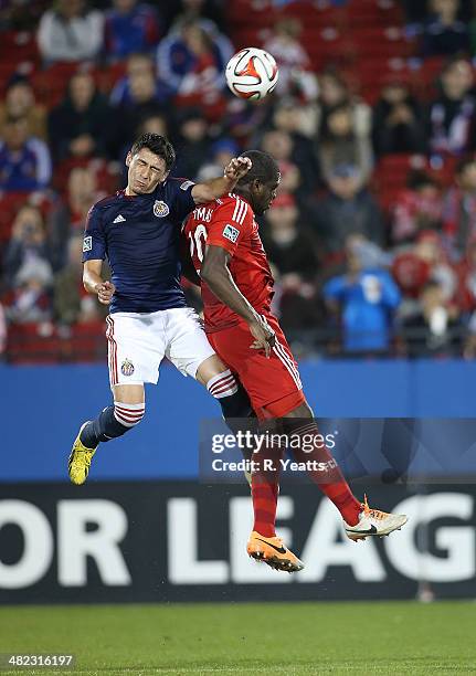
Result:
{"label": "blurred spectator in dark clothes just above the one in bright blue", "polygon": [[382,245],[385,226],[380,209],[357,167],[338,165],[329,179],[330,192],[315,205],[315,226],[328,255],[340,254],[350,234],[361,234]]}

